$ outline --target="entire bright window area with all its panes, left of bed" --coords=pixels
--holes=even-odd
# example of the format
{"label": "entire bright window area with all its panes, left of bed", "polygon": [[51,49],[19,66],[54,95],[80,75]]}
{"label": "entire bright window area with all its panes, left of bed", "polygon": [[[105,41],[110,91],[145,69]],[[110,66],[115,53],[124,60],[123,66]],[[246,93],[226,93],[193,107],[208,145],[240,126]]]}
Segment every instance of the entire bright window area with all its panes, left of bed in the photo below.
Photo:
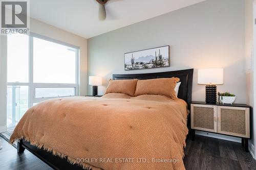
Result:
{"label": "entire bright window area with all its panes, left of bed", "polygon": [[78,47],[45,37],[8,35],[7,126],[29,107],[61,96],[78,95]]}

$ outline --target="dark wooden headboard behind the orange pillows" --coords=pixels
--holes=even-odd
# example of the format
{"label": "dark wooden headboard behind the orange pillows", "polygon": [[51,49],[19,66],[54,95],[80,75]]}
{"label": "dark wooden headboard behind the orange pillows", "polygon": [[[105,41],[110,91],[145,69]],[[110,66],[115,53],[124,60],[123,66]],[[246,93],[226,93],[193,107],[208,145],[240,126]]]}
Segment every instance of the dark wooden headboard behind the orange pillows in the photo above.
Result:
{"label": "dark wooden headboard behind the orange pillows", "polygon": [[184,69],[168,72],[154,72],[146,74],[122,74],[113,75],[113,80],[125,80],[125,79],[157,79],[157,78],[180,78],[181,85],[179,88],[178,98],[187,102],[188,108],[192,100],[192,84],[193,84],[193,72],[194,69]]}

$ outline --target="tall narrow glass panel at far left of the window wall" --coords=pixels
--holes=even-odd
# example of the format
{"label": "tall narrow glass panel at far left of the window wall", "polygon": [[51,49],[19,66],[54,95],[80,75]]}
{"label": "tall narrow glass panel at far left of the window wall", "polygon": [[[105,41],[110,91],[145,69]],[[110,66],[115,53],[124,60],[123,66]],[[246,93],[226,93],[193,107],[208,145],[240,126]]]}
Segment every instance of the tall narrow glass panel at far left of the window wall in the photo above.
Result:
{"label": "tall narrow glass panel at far left of the window wall", "polygon": [[29,108],[29,36],[8,35],[7,57],[7,126],[12,126]]}

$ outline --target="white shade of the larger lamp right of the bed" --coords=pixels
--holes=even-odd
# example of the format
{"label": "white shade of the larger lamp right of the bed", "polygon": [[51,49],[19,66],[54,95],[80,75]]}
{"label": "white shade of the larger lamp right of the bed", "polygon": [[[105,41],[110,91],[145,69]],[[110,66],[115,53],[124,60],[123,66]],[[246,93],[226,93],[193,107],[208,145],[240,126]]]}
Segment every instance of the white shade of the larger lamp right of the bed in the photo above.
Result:
{"label": "white shade of the larger lamp right of the bed", "polygon": [[223,68],[203,68],[198,70],[198,84],[223,84]]}

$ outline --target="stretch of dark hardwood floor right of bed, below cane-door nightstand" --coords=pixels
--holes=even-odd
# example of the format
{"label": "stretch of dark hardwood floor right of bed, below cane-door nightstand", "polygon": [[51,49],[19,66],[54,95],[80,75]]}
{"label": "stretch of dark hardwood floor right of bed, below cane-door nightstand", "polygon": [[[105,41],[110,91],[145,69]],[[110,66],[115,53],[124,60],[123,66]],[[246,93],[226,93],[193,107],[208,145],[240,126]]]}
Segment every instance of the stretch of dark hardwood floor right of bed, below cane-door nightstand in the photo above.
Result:
{"label": "stretch of dark hardwood floor right of bed, below cane-door nightstand", "polygon": [[186,169],[256,169],[256,161],[241,143],[196,135],[186,140]]}

